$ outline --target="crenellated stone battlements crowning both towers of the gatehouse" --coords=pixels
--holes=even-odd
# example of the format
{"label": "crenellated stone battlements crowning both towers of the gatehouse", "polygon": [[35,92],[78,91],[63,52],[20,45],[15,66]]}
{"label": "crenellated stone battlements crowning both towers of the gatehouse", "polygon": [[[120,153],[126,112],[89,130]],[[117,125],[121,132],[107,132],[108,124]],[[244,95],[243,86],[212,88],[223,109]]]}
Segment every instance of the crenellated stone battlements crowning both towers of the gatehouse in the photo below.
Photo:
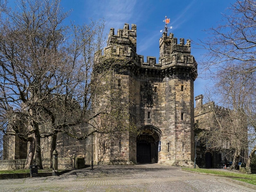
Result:
{"label": "crenellated stone battlements crowning both towers of the gatehouse", "polygon": [[[138,55],[136,52],[137,45],[137,26],[132,24],[132,29],[129,25],[124,24],[123,29],[118,29],[117,35],[114,33],[114,28],[110,29],[108,36],[107,47],[104,48],[105,56],[114,56],[132,60],[132,62],[141,68],[148,69],[167,69],[174,66],[182,66],[189,71],[197,70],[197,63],[191,55],[191,41],[180,38],[180,44],[177,44],[177,38],[173,37],[173,33],[169,36],[166,32],[162,34],[159,40],[160,56],[159,63],[156,63],[156,57],[147,56],[144,62],[144,56]],[[196,78],[197,74],[193,74]]]}

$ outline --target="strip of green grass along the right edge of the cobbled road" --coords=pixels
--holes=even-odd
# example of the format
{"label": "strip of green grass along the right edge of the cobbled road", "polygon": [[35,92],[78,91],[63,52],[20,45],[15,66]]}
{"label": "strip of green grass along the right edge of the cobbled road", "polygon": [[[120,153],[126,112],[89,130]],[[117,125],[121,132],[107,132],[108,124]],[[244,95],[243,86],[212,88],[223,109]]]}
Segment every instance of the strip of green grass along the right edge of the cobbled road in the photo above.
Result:
{"label": "strip of green grass along the right edge of the cobbled road", "polygon": [[243,181],[246,183],[256,185],[256,174],[244,174],[244,173],[232,172],[230,170],[212,170],[212,169],[200,169],[200,168],[195,168],[195,169],[183,168],[183,170],[189,170],[189,171],[199,172],[199,173],[230,176],[230,177],[234,177],[231,179],[236,179],[238,181]]}

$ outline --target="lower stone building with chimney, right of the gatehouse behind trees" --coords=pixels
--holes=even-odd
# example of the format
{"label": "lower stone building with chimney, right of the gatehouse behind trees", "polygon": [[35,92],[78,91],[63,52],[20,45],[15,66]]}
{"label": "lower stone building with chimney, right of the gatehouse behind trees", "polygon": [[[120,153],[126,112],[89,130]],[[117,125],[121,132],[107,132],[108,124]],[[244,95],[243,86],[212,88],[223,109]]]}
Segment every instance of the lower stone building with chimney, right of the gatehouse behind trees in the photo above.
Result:
{"label": "lower stone building with chimney, right of the gatehouse behind trees", "polygon": [[[203,104],[203,95],[195,97],[195,135],[199,134],[204,130],[213,130],[218,129],[217,119],[223,118],[226,122],[226,125],[229,125],[229,113],[233,113],[230,109],[226,109],[214,104],[214,102],[209,102]],[[232,121],[232,120],[231,120]],[[228,127],[226,126],[226,127]],[[245,130],[243,130],[243,128]],[[247,133],[247,126],[240,125],[242,133]],[[202,141],[197,141],[196,145],[196,164],[202,168],[220,168],[223,165],[231,165],[233,161],[234,148],[232,147],[232,134],[231,130],[225,130],[225,135],[222,138],[228,137],[227,140],[219,140],[220,150],[214,149],[211,146],[211,142],[203,143]],[[231,138],[231,139],[230,139]],[[220,139],[220,138],[219,138]],[[233,140],[234,141],[234,140]],[[246,159],[242,157],[248,156],[248,141],[247,135],[243,141],[243,148],[241,151],[241,163],[246,163]]]}

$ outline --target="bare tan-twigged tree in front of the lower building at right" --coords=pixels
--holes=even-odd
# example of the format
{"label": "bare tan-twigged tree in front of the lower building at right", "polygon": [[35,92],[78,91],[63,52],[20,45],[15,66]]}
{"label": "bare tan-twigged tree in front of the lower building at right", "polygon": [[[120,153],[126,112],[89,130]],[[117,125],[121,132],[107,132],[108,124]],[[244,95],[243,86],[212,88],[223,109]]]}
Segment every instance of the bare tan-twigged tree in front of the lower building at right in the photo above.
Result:
{"label": "bare tan-twigged tree in front of the lower building at right", "polygon": [[199,135],[207,148],[234,154],[231,169],[235,169],[239,160],[248,159],[248,127],[252,126],[249,110],[255,82],[251,74],[223,73],[218,77],[211,94],[218,95],[215,100],[222,107],[211,105],[212,113],[206,124],[209,128]]}

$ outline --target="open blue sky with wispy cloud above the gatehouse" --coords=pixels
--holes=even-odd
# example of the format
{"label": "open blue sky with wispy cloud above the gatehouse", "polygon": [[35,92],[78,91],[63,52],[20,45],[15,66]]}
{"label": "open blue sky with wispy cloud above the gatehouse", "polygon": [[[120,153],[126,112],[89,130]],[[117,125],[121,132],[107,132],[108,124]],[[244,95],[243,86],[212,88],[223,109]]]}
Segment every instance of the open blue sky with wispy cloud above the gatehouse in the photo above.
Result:
{"label": "open blue sky with wispy cloud above the gatehouse", "polygon": [[[13,2],[14,0],[9,0]],[[192,40],[191,54],[198,62],[199,76],[195,80],[194,96],[204,94],[204,86],[209,80],[200,75],[200,60],[204,50],[196,49],[193,41],[207,37],[204,29],[218,25],[227,7],[235,0],[62,0],[64,11],[72,9],[68,21],[82,24],[92,20],[106,21],[105,33],[110,28],[123,29],[124,23],[137,25],[137,54],[159,57],[160,32],[164,29],[164,18],[167,16],[177,39]],[[157,62],[158,63],[158,62]]]}

